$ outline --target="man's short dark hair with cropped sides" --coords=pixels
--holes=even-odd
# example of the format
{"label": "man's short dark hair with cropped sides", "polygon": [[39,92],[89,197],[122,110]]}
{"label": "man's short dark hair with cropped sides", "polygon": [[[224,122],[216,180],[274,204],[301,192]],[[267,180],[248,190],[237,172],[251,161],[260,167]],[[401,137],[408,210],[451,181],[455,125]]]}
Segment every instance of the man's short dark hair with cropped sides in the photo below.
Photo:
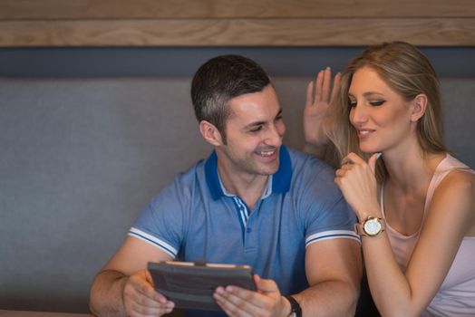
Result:
{"label": "man's short dark hair with cropped sides", "polygon": [[227,103],[237,96],[258,92],[270,83],[267,73],[247,57],[221,55],[205,62],[191,82],[191,101],[198,121],[213,124],[226,141],[230,116]]}

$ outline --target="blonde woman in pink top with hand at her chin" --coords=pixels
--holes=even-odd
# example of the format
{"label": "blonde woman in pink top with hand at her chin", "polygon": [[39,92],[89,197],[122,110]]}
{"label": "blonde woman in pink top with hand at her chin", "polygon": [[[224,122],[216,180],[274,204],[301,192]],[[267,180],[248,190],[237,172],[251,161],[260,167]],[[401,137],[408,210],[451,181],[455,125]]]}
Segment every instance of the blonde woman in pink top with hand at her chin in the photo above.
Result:
{"label": "blonde woman in pink top with hand at her chin", "polygon": [[330,80],[318,74],[315,101],[309,84],[305,139],[336,149],[334,181],[358,216],[379,312],[475,316],[475,171],[443,146],[431,63],[384,43],[335,76],[328,107]]}

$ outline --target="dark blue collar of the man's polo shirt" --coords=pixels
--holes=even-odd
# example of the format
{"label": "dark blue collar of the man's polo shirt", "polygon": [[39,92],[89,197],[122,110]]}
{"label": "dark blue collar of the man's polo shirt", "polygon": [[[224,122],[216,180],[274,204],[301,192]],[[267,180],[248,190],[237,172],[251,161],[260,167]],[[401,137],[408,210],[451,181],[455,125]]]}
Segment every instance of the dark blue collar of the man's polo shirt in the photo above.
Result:
{"label": "dark blue collar of the man's polo shirt", "polygon": [[[205,162],[205,177],[208,184],[211,197],[217,200],[223,196],[229,196],[226,189],[222,186],[218,175],[218,156],[213,150]],[[290,189],[292,179],[292,162],[286,146],[281,146],[279,150],[279,168],[276,174],[270,175],[267,181],[267,189],[264,191],[263,198],[273,193],[286,193]]]}

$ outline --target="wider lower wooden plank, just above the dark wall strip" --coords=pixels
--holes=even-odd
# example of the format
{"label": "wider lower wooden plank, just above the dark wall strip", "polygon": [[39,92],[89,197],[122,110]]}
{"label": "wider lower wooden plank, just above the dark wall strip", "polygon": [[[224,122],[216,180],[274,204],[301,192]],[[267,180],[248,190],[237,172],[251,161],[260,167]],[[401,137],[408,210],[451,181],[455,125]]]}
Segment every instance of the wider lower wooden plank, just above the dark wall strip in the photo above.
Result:
{"label": "wider lower wooden plank, just above the dark wall strip", "polygon": [[474,46],[475,19],[4,21],[0,46]]}

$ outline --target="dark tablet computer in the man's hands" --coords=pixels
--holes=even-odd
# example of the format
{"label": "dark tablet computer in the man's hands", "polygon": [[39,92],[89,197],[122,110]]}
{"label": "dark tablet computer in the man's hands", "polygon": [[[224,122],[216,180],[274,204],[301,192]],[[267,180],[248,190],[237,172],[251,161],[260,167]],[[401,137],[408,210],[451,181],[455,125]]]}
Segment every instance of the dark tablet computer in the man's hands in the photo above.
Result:
{"label": "dark tablet computer in the man's hands", "polygon": [[154,288],[183,309],[220,311],[213,293],[218,286],[236,285],[256,291],[249,265],[163,261],[147,265]]}

